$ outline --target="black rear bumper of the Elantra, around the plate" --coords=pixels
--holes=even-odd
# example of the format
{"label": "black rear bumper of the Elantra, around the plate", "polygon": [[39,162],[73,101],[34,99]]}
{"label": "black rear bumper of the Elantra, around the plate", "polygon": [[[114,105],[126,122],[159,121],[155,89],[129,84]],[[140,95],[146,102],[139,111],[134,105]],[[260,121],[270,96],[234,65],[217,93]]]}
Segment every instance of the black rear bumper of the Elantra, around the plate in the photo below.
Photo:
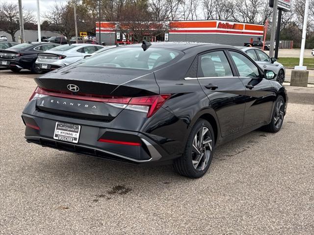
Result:
{"label": "black rear bumper of the Elantra, around the plate", "polygon": [[[145,133],[89,126],[78,123],[78,119],[73,119],[72,123],[81,125],[81,132],[78,143],[71,143],[53,139],[55,123],[59,120],[27,114],[23,114],[22,118],[24,123],[28,124],[25,131],[26,141],[41,146],[131,164],[172,161],[176,157],[169,156],[156,141],[149,138]],[[31,126],[38,128],[35,129]],[[124,141],[125,138],[128,140],[133,138],[139,141],[141,145],[131,146],[99,141],[104,136],[118,138],[121,141]]]}

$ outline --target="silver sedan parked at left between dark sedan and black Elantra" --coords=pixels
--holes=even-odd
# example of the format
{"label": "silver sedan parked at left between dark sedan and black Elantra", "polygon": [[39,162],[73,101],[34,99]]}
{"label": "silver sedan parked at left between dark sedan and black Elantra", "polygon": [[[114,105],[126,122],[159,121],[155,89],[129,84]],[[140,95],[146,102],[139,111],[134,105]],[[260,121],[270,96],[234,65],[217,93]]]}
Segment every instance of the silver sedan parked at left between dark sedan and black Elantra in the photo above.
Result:
{"label": "silver sedan parked at left between dark sedan and black Elantra", "polygon": [[43,71],[52,71],[73,64],[91,55],[103,46],[91,44],[65,44],[40,53],[36,65]]}

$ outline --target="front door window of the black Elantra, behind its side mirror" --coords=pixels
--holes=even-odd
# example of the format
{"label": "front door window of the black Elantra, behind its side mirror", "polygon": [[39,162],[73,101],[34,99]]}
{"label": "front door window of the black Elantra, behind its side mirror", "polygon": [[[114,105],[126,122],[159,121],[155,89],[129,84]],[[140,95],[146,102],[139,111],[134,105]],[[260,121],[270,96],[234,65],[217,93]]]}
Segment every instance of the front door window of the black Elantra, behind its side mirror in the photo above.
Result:
{"label": "front door window of the black Elantra, behind its side mirror", "polygon": [[241,77],[259,76],[259,70],[252,61],[235,51],[230,51],[230,54]]}

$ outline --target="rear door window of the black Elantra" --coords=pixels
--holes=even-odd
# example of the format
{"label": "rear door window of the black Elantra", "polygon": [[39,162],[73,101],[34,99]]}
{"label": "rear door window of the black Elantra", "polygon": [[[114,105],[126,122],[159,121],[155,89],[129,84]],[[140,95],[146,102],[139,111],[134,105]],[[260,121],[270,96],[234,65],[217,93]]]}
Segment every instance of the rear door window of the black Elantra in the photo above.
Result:
{"label": "rear door window of the black Elantra", "polygon": [[233,76],[227,57],[223,51],[213,51],[199,57],[198,77]]}

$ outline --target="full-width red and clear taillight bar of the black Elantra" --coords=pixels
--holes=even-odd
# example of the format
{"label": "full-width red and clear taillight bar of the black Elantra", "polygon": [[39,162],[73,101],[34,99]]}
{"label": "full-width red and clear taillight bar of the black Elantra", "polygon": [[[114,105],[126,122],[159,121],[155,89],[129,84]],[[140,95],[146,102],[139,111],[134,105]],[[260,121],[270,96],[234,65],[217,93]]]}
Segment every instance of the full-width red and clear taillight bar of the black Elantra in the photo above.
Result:
{"label": "full-width red and clear taillight bar of the black Elantra", "polygon": [[147,118],[152,117],[157,110],[170,98],[171,94],[157,94],[142,97],[117,97],[98,94],[72,94],[70,92],[45,90],[37,87],[30,96],[29,101],[45,96],[55,96],[69,99],[87,100],[94,102],[104,102],[116,108],[128,109],[147,114]]}

